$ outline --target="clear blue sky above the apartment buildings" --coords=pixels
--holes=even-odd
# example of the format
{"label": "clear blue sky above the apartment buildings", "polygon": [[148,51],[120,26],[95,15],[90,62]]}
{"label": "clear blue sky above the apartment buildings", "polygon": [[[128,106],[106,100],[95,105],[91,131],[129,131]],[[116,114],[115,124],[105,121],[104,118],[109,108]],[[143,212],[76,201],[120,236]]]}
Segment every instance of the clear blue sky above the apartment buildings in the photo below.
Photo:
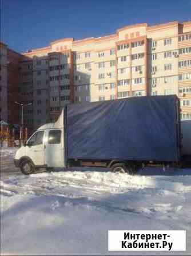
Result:
{"label": "clear blue sky above the apartment buildings", "polygon": [[126,25],[191,20],[191,0],[0,0],[0,41],[25,52],[64,37],[112,34]]}

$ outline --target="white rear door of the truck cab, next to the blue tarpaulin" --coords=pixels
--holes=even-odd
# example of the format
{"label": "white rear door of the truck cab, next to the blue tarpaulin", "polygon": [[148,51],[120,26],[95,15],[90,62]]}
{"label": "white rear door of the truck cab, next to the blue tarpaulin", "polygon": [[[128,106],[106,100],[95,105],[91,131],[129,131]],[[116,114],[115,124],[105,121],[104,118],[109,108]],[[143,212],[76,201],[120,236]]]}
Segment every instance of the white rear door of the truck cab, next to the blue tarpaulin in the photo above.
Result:
{"label": "white rear door of the truck cab, next to the blue tarpaulin", "polygon": [[63,129],[46,130],[45,164],[53,168],[65,167]]}

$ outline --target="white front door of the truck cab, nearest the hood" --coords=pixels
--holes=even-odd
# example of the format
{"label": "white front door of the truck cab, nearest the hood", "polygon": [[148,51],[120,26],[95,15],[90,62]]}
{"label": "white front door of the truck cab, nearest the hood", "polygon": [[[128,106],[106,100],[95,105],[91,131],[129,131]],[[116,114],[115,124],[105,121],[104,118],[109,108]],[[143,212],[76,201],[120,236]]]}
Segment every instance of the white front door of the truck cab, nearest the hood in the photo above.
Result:
{"label": "white front door of the truck cab, nearest the hood", "polygon": [[29,157],[34,165],[43,166],[45,164],[45,154],[43,147],[43,137],[45,131],[37,131],[26,143],[26,156]]}

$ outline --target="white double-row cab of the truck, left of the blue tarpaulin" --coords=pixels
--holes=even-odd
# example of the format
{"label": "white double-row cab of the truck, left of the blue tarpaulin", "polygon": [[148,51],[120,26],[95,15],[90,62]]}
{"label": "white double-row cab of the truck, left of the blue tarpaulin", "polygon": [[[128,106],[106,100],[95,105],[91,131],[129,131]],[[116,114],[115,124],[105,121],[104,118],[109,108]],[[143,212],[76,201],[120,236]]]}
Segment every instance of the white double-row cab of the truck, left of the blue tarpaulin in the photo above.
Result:
{"label": "white double-row cab of the truck, left of the blue tarpaulin", "polygon": [[65,167],[63,119],[47,123],[31,135],[26,144],[17,150],[14,164],[24,174],[37,168]]}

